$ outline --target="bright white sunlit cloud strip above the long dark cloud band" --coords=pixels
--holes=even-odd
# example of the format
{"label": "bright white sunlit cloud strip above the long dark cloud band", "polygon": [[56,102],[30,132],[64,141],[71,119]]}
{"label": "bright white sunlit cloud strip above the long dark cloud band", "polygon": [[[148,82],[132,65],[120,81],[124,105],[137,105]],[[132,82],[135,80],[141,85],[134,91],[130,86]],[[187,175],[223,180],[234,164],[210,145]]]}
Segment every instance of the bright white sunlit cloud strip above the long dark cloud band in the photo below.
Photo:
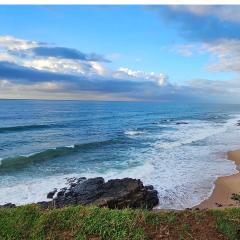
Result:
{"label": "bright white sunlit cloud strip above the long dark cloud band", "polygon": [[[167,83],[168,77],[162,73],[135,71],[129,68],[119,68],[117,71],[114,71],[98,61],[34,55],[31,49],[39,47],[42,44],[37,41],[28,41],[12,36],[0,36],[0,61],[14,62],[25,67],[55,73],[82,75],[86,77],[113,77],[136,81],[154,81],[159,86]],[[45,46],[48,46],[48,44],[45,43]],[[24,57],[21,54],[24,54]],[[120,54],[113,54],[112,57],[116,56],[119,57]]]}

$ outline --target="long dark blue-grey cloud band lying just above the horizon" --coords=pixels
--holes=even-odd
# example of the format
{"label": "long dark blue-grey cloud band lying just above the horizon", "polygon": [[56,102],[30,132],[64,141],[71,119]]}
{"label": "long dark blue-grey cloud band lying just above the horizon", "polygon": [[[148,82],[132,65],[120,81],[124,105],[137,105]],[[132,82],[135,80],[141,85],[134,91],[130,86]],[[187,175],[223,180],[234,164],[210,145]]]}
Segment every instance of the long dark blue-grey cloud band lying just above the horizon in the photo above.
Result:
{"label": "long dark blue-grey cloud band lying just above the horizon", "polygon": [[[180,98],[186,100],[189,95],[171,84],[159,85],[158,81],[144,81],[109,77],[87,78],[80,75],[61,74],[34,68],[19,66],[15,63],[0,62],[0,94],[22,95],[26,98],[35,93],[35,97],[53,96],[78,98],[77,96],[111,96],[112,99],[131,99],[147,101],[173,101]],[[24,86],[26,86],[24,88]],[[13,95],[14,95],[13,94]],[[17,96],[15,95],[15,96]],[[98,98],[98,97],[97,97]]]}

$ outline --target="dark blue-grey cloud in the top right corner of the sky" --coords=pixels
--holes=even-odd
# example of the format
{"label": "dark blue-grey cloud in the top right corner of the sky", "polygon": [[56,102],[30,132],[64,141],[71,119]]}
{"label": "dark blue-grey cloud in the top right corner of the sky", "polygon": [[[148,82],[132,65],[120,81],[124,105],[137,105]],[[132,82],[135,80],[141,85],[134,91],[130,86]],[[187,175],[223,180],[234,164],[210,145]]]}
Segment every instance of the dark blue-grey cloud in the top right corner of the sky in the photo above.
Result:
{"label": "dark blue-grey cloud in the top right corner of the sky", "polygon": [[240,38],[240,6],[151,6],[151,9],[191,41]]}

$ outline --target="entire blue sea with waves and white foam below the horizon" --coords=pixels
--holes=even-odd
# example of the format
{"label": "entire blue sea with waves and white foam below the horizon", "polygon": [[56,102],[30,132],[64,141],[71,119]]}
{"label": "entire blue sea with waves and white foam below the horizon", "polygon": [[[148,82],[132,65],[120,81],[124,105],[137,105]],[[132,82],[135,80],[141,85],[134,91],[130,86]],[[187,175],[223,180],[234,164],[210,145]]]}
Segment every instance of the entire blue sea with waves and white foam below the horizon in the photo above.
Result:
{"label": "entire blue sea with waves and white foam below the horizon", "polygon": [[0,204],[103,176],[152,184],[160,208],[192,207],[236,172],[238,120],[240,105],[0,100]]}

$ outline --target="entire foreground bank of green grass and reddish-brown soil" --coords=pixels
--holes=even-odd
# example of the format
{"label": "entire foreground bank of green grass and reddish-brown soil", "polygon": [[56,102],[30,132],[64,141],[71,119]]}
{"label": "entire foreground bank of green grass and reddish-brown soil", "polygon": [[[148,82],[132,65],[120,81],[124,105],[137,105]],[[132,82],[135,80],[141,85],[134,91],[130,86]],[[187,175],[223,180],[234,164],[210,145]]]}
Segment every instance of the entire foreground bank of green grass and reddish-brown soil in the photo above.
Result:
{"label": "entire foreground bank of green grass and reddish-brown soil", "polygon": [[240,239],[240,208],[150,212],[74,206],[0,209],[0,239]]}

